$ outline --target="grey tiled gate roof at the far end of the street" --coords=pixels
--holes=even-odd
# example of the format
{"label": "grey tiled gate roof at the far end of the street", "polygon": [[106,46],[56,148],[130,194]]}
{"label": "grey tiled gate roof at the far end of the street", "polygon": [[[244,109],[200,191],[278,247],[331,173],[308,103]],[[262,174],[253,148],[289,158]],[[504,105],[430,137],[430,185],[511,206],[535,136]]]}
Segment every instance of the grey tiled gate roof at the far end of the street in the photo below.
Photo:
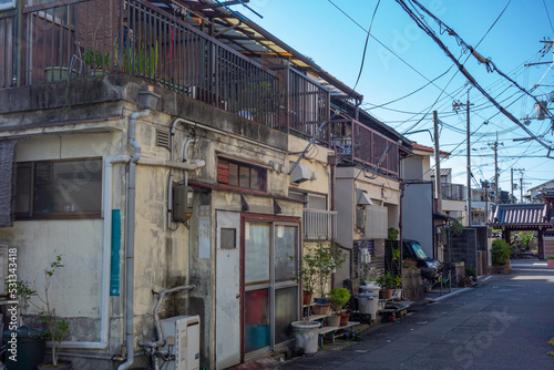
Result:
{"label": "grey tiled gate roof at the far end of the street", "polygon": [[500,204],[491,217],[493,227],[553,226],[552,206],[548,204]]}

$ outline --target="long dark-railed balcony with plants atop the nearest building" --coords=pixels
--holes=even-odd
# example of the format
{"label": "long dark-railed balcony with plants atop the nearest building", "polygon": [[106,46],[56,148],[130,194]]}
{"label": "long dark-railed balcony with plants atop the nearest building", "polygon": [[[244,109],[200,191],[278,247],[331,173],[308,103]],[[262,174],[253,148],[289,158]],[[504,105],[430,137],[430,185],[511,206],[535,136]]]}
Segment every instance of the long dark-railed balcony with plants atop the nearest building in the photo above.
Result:
{"label": "long dark-railed balcony with plants atop the nearest building", "polygon": [[[145,0],[69,0],[3,11],[0,89],[117,72],[305,137],[329,119],[326,88],[293,68],[257,63],[197,22]],[[329,146],[328,131],[318,141]]]}

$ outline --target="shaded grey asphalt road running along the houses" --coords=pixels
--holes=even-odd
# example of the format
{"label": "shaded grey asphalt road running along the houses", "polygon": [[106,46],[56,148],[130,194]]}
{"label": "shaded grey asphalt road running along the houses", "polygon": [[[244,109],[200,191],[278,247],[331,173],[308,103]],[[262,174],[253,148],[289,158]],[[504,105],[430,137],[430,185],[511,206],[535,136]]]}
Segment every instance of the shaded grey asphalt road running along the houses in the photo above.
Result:
{"label": "shaded grey asphalt road running along the houses", "polygon": [[[279,369],[554,369],[554,269],[514,261],[510,275],[370,327]],[[345,345],[345,343],[342,343]]]}

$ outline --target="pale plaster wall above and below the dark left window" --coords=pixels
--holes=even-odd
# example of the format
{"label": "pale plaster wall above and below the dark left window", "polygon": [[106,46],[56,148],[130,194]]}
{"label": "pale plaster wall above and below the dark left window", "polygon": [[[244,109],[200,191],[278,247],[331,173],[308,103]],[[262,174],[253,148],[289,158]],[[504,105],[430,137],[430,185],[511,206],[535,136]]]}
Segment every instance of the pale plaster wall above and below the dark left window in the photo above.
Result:
{"label": "pale plaster wall above and below the dark left window", "polygon": [[[18,140],[17,161],[102,157],[115,154],[120,140],[116,132],[23,137]],[[121,189],[121,183],[115,183],[114,188]],[[102,233],[100,218],[17,220],[11,228],[0,228],[0,240],[18,248],[18,279],[37,284],[39,292],[43,291],[44,269],[62,255],[65,267],[55,273],[49,291],[57,314],[96,319],[101,304]],[[24,314],[38,310],[30,306]]]}

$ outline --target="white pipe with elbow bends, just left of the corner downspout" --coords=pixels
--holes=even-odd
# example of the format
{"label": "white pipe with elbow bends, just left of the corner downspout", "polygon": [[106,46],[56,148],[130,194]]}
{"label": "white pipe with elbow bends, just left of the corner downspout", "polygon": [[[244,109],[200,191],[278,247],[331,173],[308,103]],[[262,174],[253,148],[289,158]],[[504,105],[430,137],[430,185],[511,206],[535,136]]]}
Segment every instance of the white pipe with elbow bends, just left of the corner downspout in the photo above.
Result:
{"label": "white pipe with elbow bends, just left of the corner downspout", "polygon": [[[129,163],[129,155],[114,155],[104,158],[104,227],[102,238],[102,300],[100,314],[100,340],[92,341],[63,341],[62,348],[83,348],[83,349],[106,349],[110,329],[109,308],[110,308],[110,263],[111,263],[111,236],[112,236],[112,165],[114,163]],[[68,356],[70,356],[68,353]],[[73,356],[73,354],[71,354]]]}

